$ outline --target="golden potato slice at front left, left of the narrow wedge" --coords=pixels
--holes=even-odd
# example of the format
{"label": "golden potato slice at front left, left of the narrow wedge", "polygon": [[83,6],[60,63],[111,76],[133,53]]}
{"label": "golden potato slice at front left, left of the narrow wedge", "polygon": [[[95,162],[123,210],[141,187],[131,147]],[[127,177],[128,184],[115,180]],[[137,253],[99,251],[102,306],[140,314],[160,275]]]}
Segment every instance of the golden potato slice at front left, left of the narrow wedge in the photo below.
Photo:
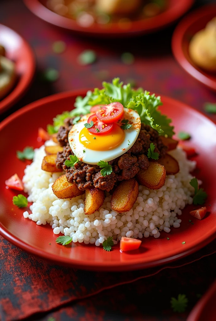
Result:
{"label": "golden potato slice at front left, left of the narrow wedge", "polygon": [[82,195],[84,191],[81,191],[76,186],[76,183],[69,183],[66,175],[62,175],[55,180],[52,185],[53,193],[61,199],[73,198]]}

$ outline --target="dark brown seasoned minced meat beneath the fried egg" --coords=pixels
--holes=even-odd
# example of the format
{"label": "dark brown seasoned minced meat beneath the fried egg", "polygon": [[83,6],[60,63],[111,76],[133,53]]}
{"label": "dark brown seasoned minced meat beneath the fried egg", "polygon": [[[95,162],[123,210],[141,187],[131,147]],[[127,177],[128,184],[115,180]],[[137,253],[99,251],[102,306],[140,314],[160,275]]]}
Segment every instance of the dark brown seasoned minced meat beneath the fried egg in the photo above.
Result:
{"label": "dark brown seasoned minced meat beneath the fried egg", "polygon": [[130,179],[134,177],[140,169],[149,167],[149,159],[147,157],[150,143],[155,144],[155,152],[160,156],[164,156],[167,147],[163,145],[158,132],[148,125],[141,126],[140,133],[136,142],[131,149],[120,157],[109,161],[112,165],[113,172],[110,175],[102,176],[100,167],[97,165],[85,164],[78,162],[74,167],[68,168],[64,165],[64,161],[69,159],[69,155],[73,155],[67,141],[72,121],[67,119],[65,127],[60,127],[58,131],[58,141],[64,146],[63,152],[58,152],[56,166],[63,168],[66,172],[68,182],[75,182],[80,190],[89,189],[91,187],[100,188],[109,192],[117,181]]}

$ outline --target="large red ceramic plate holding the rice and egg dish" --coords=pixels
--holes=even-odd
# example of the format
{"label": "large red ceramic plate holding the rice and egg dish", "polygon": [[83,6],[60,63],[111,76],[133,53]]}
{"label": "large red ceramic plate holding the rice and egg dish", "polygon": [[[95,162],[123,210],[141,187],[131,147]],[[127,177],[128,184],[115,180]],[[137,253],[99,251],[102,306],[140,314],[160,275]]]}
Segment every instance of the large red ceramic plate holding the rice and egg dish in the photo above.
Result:
{"label": "large red ceramic plate holding the rice and egg dish", "polygon": [[[194,206],[187,206],[181,216],[179,229],[173,228],[168,235],[162,232],[158,239],[143,239],[137,251],[120,253],[119,244],[111,252],[94,245],[75,243],[72,246],[60,246],[55,243],[56,235],[49,224],[38,226],[23,218],[23,210],[12,204],[14,191],[6,189],[4,185],[4,180],[15,172],[20,177],[23,176],[26,163],[16,158],[16,150],[22,150],[25,146],[39,147],[38,127],[46,128],[56,114],[71,110],[76,96],[85,93],[86,91],[66,92],[38,100],[18,110],[0,124],[0,234],[23,250],[59,264],[108,271],[133,270],[170,262],[200,249],[214,239],[216,126],[196,110],[163,96],[163,113],[173,119],[176,132],[184,130],[192,133],[188,145],[193,146],[199,154],[195,158],[200,170],[196,175],[203,180],[203,188],[208,193],[207,210],[211,212],[202,221],[194,219],[194,225],[190,224],[189,211]],[[184,241],[186,243],[182,244]]]}

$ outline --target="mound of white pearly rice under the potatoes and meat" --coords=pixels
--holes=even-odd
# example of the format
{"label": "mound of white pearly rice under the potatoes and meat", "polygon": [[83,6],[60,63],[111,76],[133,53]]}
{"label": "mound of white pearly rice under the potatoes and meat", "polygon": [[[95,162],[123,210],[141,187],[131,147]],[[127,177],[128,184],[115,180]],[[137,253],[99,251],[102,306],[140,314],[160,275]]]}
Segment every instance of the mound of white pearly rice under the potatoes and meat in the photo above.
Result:
{"label": "mound of white pearly rice under the potatoes and meat", "polygon": [[[45,145],[53,142],[47,141]],[[34,160],[24,170],[23,183],[32,213],[25,211],[23,216],[35,221],[37,225],[47,223],[54,234],[62,233],[70,236],[73,242],[84,242],[100,246],[105,239],[113,236],[114,244],[122,236],[132,238],[158,238],[160,232],[170,232],[170,227],[178,228],[186,204],[192,204],[194,188],[189,184],[190,171],[195,162],[187,160],[185,152],[180,148],[170,152],[179,162],[180,171],[176,175],[168,175],[165,185],[158,190],[150,190],[139,186],[139,196],[133,208],[119,214],[111,209],[111,195],[106,192],[104,204],[94,214],[85,215],[84,199],[81,195],[73,199],[58,199],[52,192],[52,184],[63,173],[45,172],[41,163],[45,156],[44,146],[35,149]]]}

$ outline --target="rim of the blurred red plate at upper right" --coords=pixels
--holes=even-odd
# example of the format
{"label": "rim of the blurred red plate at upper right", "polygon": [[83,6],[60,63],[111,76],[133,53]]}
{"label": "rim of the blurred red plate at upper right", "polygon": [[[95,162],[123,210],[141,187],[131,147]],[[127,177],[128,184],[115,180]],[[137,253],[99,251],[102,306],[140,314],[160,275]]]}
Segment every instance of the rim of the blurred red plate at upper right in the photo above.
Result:
{"label": "rim of the blurred red plate at upper right", "polygon": [[199,67],[195,67],[185,56],[183,47],[183,40],[187,29],[194,24],[197,20],[203,16],[215,12],[216,14],[216,5],[207,5],[199,8],[193,13],[189,13],[176,27],[172,36],[172,51],[177,62],[185,71],[194,77],[199,82],[203,83],[208,88],[216,91],[216,81],[208,77],[207,72],[205,73]]}

